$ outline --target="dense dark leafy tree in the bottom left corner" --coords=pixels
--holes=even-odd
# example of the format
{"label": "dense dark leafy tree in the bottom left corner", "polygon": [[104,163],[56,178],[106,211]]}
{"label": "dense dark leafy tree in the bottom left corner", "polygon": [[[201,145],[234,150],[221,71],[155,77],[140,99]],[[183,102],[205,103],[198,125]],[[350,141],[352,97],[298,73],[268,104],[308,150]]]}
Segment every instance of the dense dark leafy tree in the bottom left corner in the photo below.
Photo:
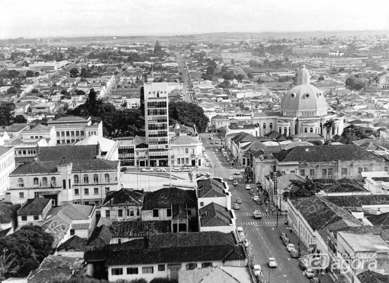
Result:
{"label": "dense dark leafy tree in the bottom left corner", "polygon": [[42,227],[26,225],[0,241],[0,280],[25,277],[52,252],[53,237]]}

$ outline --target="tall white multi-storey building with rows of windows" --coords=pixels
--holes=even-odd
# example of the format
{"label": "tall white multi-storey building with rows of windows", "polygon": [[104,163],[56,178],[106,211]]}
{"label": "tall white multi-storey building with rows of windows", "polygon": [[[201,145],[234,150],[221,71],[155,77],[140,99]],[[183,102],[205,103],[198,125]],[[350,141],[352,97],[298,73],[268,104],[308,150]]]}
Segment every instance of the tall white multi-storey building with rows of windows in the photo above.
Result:
{"label": "tall white multi-storey building with rows of windows", "polygon": [[169,166],[169,99],[167,83],[146,83],[145,123],[149,166]]}

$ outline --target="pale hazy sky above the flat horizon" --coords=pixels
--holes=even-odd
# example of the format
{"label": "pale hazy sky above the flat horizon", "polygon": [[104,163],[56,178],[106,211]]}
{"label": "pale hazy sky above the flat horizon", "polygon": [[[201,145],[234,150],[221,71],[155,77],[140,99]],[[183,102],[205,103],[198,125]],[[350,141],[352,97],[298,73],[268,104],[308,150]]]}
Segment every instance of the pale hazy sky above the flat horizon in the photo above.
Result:
{"label": "pale hazy sky above the flat horizon", "polygon": [[0,0],[0,38],[389,30],[389,0]]}

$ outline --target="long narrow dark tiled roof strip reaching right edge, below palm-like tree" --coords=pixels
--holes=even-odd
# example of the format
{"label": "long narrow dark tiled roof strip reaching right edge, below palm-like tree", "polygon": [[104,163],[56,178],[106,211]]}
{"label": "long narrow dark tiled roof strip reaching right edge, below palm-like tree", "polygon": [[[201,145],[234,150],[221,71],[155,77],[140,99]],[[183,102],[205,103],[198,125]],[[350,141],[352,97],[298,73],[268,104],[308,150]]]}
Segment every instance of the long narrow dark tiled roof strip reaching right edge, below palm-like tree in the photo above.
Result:
{"label": "long narrow dark tiled roof strip reaching right edge, below palm-like tree", "polygon": [[388,205],[389,195],[325,196],[340,207],[362,207],[363,205]]}

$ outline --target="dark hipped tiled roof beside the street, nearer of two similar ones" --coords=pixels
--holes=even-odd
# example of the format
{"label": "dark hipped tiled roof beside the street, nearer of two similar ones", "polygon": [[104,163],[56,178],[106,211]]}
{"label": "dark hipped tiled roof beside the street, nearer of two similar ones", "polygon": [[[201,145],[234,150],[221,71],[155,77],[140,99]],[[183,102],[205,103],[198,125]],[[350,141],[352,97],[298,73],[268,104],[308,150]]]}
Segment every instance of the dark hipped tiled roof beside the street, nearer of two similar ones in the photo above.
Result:
{"label": "dark hipped tiled roof beside the street, nearer of two similar ones", "polygon": [[229,226],[232,224],[232,215],[227,208],[211,202],[200,208],[201,227]]}

